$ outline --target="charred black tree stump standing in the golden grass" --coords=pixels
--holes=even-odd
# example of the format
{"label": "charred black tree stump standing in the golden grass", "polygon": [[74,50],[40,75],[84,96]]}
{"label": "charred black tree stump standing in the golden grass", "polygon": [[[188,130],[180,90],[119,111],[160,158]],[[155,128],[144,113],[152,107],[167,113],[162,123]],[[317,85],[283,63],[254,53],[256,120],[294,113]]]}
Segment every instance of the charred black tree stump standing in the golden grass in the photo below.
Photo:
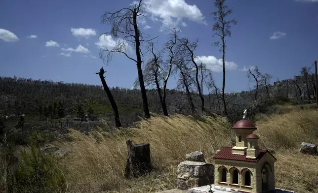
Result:
{"label": "charred black tree stump standing in the golden grass", "polygon": [[134,144],[130,139],[126,141],[128,158],[125,168],[125,178],[139,177],[152,170],[150,161],[150,144]]}

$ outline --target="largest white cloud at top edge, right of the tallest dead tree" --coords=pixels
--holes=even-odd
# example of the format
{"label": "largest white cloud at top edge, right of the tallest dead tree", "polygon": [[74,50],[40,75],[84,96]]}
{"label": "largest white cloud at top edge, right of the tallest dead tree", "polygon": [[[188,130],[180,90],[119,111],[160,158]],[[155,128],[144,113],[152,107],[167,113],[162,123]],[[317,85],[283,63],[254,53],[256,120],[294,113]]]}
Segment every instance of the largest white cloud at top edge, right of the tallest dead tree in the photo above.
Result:
{"label": "largest white cloud at top edge, right of the tallest dead tree", "polygon": [[150,18],[153,21],[162,22],[160,31],[172,30],[180,25],[185,26],[183,18],[207,25],[205,17],[197,5],[187,4],[185,0],[145,0],[144,3]]}

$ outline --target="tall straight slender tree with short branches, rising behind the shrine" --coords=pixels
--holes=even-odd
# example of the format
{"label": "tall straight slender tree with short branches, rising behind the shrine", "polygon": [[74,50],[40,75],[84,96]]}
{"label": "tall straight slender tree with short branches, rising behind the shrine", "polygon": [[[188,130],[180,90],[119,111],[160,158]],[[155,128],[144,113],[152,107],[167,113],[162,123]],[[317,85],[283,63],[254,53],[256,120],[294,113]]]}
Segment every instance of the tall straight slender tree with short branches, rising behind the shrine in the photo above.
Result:
{"label": "tall straight slender tree with short branches, rising behind the shrine", "polygon": [[216,20],[216,23],[213,25],[213,31],[215,33],[213,36],[220,37],[221,41],[214,42],[215,46],[222,46],[220,51],[222,50],[222,63],[223,63],[223,82],[222,82],[222,101],[223,101],[223,113],[225,115],[228,114],[228,111],[226,109],[226,102],[225,102],[225,37],[231,36],[231,24],[236,25],[236,20],[225,20],[225,17],[233,13],[233,10],[230,9],[227,5],[224,3],[225,0],[215,0],[214,6],[217,8],[216,12],[213,12],[214,20]]}

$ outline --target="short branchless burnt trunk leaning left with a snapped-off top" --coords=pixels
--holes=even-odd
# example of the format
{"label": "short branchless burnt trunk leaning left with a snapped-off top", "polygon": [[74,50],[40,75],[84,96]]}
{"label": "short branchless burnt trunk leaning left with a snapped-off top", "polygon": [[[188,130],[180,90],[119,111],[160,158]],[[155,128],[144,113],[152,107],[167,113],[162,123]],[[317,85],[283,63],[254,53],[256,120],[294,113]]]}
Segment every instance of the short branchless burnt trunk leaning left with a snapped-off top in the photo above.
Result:
{"label": "short branchless burnt trunk leaning left with a snapped-off top", "polygon": [[121,127],[121,122],[120,122],[120,119],[119,119],[119,112],[118,112],[118,107],[117,107],[117,104],[116,104],[116,101],[112,95],[112,92],[109,90],[108,88],[108,85],[105,81],[105,76],[104,76],[104,73],[106,71],[104,71],[104,68],[102,67],[99,72],[96,72],[95,74],[98,74],[99,75],[99,78],[103,84],[103,87],[104,87],[104,90],[107,94],[107,97],[112,105],[112,108],[113,108],[113,112],[114,112],[114,115],[115,115],[115,124],[116,124],[116,127],[117,128],[120,128]]}

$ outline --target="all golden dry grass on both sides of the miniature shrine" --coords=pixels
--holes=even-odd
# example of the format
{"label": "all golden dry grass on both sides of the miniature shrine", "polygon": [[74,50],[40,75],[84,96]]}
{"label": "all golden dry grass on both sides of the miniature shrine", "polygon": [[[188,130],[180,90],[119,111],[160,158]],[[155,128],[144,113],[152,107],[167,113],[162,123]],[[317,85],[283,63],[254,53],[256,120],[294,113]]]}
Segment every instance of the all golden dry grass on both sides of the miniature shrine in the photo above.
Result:
{"label": "all golden dry grass on both sides of the miniature shrine", "polygon": [[[286,108],[286,107],[284,107]],[[293,108],[293,107],[288,107]],[[318,142],[318,112],[291,109],[286,114],[261,116],[256,123],[261,145],[276,151],[276,185],[297,193],[318,192],[318,162],[313,156],[298,153],[302,141]],[[139,122],[135,128],[108,134],[91,132],[88,136],[71,130],[71,140],[56,145],[72,151],[60,160],[70,193],[158,192],[176,188],[176,167],[185,154],[203,152],[213,162],[217,149],[231,144],[231,125],[222,117],[202,117],[200,121],[183,115],[155,116]],[[127,150],[126,139],[150,143],[156,171],[149,176],[123,178]]]}

